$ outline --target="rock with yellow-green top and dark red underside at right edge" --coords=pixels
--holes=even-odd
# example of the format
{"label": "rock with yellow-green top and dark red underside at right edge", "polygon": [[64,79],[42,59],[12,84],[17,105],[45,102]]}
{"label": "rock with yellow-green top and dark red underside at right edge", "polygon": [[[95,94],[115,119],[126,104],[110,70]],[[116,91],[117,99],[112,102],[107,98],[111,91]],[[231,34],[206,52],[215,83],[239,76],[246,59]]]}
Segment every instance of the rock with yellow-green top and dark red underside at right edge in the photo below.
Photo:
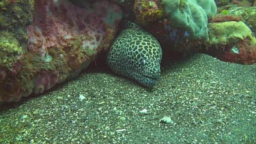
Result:
{"label": "rock with yellow-green top and dark red underside at right edge", "polygon": [[241,64],[256,62],[256,39],[242,21],[210,23],[208,54],[223,61]]}

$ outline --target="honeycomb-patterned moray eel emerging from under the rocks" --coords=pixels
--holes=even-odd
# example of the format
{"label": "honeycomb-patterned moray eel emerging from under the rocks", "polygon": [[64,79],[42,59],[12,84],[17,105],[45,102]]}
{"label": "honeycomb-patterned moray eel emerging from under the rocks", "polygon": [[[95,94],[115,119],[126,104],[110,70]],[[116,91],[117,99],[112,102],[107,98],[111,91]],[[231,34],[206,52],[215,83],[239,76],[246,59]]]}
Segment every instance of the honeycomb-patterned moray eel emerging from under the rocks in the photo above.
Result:
{"label": "honeycomb-patterned moray eel emerging from under the rocks", "polygon": [[156,38],[128,22],[113,42],[107,62],[114,73],[152,88],[160,77],[161,59],[162,49]]}

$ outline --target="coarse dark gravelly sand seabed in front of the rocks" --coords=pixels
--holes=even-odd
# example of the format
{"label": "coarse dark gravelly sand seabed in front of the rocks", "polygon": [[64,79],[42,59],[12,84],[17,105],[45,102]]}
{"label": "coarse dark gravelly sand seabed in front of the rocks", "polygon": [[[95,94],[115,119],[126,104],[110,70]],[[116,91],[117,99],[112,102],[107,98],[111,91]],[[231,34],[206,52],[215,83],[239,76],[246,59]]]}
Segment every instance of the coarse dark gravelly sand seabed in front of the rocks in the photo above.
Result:
{"label": "coarse dark gravelly sand seabed in front of the rocks", "polygon": [[0,143],[256,143],[255,74],[208,55],[165,66],[154,89],[87,72],[1,110]]}

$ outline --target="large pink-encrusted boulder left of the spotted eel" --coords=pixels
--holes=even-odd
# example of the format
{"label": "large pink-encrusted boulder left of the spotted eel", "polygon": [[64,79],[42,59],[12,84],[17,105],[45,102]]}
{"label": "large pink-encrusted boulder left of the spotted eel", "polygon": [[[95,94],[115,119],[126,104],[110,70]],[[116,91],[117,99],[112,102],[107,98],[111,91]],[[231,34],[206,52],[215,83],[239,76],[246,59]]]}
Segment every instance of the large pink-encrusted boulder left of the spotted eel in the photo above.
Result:
{"label": "large pink-encrusted boulder left of the spotted eel", "polygon": [[43,93],[79,74],[109,48],[122,19],[119,6],[106,0],[75,4],[35,1],[26,53],[12,69],[0,66],[0,102]]}

